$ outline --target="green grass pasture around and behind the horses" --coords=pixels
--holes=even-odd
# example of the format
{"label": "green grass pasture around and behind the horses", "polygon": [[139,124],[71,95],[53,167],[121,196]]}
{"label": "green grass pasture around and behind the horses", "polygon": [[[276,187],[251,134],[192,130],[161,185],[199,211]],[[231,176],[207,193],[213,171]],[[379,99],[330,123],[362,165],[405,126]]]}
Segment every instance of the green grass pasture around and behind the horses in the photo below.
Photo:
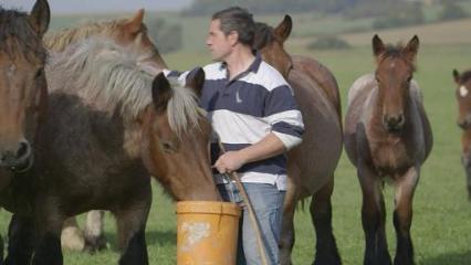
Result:
{"label": "green grass pasture around and behind the horses", "polygon": [[[281,15],[280,15],[281,20]],[[272,20],[279,21],[279,20]],[[198,24],[206,29],[207,24]],[[184,26],[185,28],[185,26]],[[296,21],[294,24],[296,28]],[[452,28],[448,29],[451,30]],[[469,29],[469,28],[468,28]],[[440,33],[440,32],[439,32]],[[446,33],[446,32],[443,32]],[[396,34],[381,35],[387,43],[398,41]],[[343,110],[345,112],[347,89],[356,77],[374,70],[370,34],[362,34],[358,46],[345,51],[306,51],[290,45],[292,54],[306,54],[325,64],[335,75],[341,87]],[[406,35],[407,41],[411,35]],[[420,32],[419,32],[420,38]],[[440,35],[436,36],[440,39]],[[444,38],[444,36],[442,36]],[[203,38],[199,36],[196,43]],[[297,43],[297,42],[293,42]],[[366,44],[365,44],[366,43]],[[421,39],[418,53],[418,72],[415,78],[422,88],[425,106],[431,121],[435,145],[422,167],[421,179],[414,200],[414,221],[411,227],[416,262],[423,265],[471,264],[471,202],[467,200],[464,171],[460,162],[460,129],[457,126],[454,83],[451,71],[471,67],[471,42],[461,44],[436,43],[430,45]],[[156,43],[158,46],[158,43]],[[179,53],[164,55],[167,64],[177,70],[187,70],[208,63],[209,54],[201,49],[186,49]],[[315,161],[313,161],[314,163]],[[176,215],[175,204],[164,194],[159,184],[153,180],[154,202],[147,223],[146,236],[150,264],[176,264]],[[395,253],[395,231],[393,226],[393,188],[385,186],[387,206],[387,235],[391,254]],[[364,235],[360,223],[360,189],[355,168],[343,155],[335,176],[333,195],[333,226],[342,259],[346,265],[362,264]],[[10,214],[0,213],[0,232],[6,234]],[[83,223],[83,219],[81,220]],[[296,244],[293,251],[294,264],[311,264],[314,250],[314,231],[308,211],[301,205],[295,215]],[[93,256],[84,253],[64,254],[64,264],[116,264],[116,227],[107,214],[106,236],[109,250]]]}

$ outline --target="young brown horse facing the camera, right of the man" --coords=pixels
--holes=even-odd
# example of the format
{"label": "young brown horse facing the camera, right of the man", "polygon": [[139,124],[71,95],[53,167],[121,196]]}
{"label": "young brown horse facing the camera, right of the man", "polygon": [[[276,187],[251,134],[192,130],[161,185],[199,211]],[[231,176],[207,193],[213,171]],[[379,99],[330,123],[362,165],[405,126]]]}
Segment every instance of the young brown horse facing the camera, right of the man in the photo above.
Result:
{"label": "young brown horse facing the camera, right of the man", "polygon": [[412,199],[420,167],[432,147],[430,124],[418,84],[412,80],[419,39],[386,46],[375,35],[376,72],[355,81],[348,92],[345,150],[357,168],[363,191],[364,264],[390,264],[381,188],[395,188],[395,264],[414,264],[410,237]]}

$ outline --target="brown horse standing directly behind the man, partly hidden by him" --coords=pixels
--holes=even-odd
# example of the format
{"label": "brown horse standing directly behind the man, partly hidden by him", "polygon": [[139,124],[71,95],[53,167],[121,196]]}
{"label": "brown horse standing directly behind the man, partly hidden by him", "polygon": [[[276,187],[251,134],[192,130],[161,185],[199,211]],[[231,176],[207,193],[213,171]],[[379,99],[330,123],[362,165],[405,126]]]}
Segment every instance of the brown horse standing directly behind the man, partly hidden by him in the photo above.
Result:
{"label": "brown horse standing directly behind the man, partly hidden by him", "polygon": [[[332,229],[331,197],[334,171],[342,153],[342,114],[338,86],[328,68],[307,56],[284,50],[293,22],[290,15],[272,28],[258,22],[253,47],[289,82],[299,103],[305,132],[300,146],[287,153],[287,190],[283,205],[280,262],[291,264],[294,246],[294,211],[311,198],[310,212],[316,231],[314,264],[341,264]],[[304,203],[303,203],[304,204]]]}

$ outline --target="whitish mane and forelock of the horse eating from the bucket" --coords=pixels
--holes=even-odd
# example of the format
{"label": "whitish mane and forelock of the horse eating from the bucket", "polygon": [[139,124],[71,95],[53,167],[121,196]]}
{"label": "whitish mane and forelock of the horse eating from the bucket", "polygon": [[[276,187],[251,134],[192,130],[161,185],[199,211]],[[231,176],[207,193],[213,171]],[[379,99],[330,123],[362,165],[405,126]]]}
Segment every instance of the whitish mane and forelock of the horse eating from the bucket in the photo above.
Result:
{"label": "whitish mane and forelock of the horse eating from the bucket", "polygon": [[[124,119],[135,119],[153,102],[155,71],[144,63],[143,55],[102,38],[91,38],[71,45],[51,67],[73,85],[67,89],[86,102],[102,102],[112,113],[121,107]],[[172,131],[181,136],[190,126],[198,127],[201,116],[198,98],[177,78],[169,78],[172,96],[167,116]],[[53,89],[55,89],[54,87]]]}

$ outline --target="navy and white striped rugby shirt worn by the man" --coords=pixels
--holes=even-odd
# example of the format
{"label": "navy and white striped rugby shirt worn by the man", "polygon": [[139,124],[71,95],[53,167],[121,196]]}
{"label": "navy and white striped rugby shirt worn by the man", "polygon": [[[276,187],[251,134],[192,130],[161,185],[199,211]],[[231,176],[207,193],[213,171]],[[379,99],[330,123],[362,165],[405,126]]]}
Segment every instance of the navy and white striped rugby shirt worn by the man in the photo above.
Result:
{"label": "navy and white striped rugby shirt worn by the man", "polygon": [[[193,71],[181,75],[166,71],[166,74],[184,80]],[[231,81],[224,63],[209,64],[203,71],[206,82],[200,105],[208,112],[216,132],[211,142],[212,165],[220,153],[217,136],[227,151],[255,144],[269,132],[276,135],[286,150],[301,142],[304,124],[293,91],[260,54],[245,72]],[[242,182],[276,184],[279,190],[286,190],[285,153],[247,163],[237,171]],[[216,181],[228,180],[216,174]]]}

